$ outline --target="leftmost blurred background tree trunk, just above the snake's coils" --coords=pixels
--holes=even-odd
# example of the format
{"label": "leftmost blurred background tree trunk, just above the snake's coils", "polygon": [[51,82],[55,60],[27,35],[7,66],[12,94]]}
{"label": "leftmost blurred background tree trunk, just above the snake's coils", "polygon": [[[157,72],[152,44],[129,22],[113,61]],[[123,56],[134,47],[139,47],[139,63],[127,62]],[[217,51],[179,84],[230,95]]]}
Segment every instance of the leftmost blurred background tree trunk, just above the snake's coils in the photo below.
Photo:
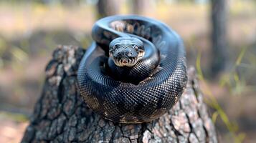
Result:
{"label": "leftmost blurred background tree trunk, just above the snake's coils", "polygon": [[115,0],[99,0],[97,4],[98,19],[118,14],[119,3]]}

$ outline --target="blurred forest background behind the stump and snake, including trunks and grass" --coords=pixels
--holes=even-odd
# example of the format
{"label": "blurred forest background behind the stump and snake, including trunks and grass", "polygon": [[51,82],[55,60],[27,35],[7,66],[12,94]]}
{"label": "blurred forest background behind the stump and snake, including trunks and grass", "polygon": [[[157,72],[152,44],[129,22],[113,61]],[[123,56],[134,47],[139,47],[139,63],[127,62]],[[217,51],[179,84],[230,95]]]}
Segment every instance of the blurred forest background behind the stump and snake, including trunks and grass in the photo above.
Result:
{"label": "blurred forest background behind the stump and snake, including trunks and grass", "polygon": [[220,142],[255,142],[255,0],[1,0],[0,142],[20,142],[58,44],[90,46],[112,14],[163,21],[184,39]]}

